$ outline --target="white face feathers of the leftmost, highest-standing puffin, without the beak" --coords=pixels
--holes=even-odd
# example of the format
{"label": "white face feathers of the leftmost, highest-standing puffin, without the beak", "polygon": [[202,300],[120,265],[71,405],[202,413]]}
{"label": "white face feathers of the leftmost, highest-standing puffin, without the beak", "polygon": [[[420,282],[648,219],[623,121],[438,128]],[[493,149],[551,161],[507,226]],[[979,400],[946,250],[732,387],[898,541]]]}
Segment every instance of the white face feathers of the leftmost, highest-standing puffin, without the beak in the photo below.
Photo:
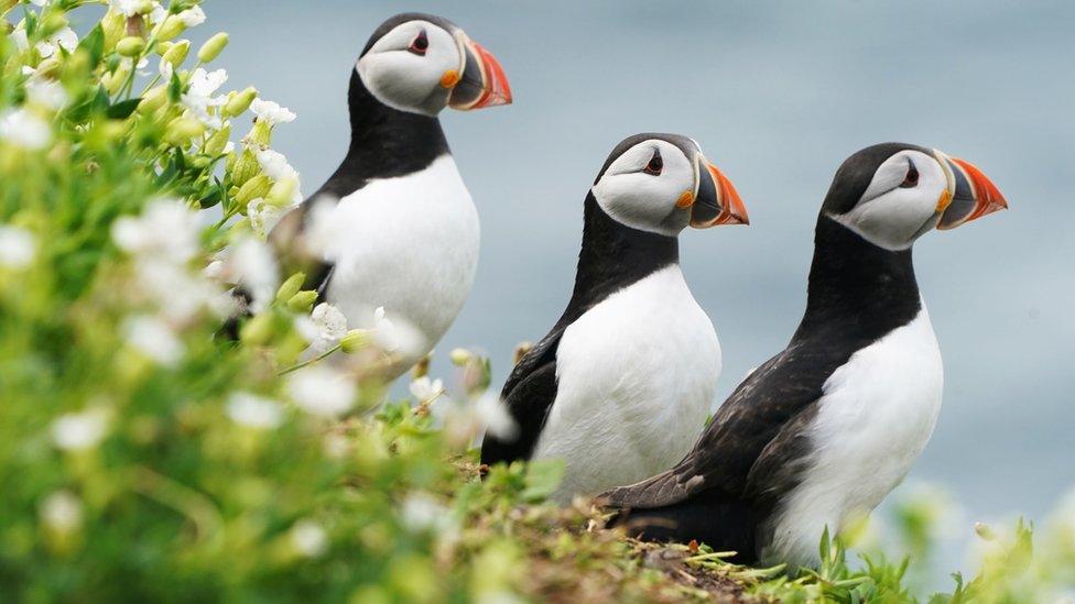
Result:
{"label": "white face feathers of the leftmost, highest-standing puffin, without the beak", "polygon": [[[425,32],[424,55],[410,52],[411,43]],[[384,105],[425,116],[436,116],[447,103],[448,90],[441,78],[448,69],[462,72],[463,57],[450,33],[428,21],[408,21],[381,36],[358,61],[362,84]]]}

